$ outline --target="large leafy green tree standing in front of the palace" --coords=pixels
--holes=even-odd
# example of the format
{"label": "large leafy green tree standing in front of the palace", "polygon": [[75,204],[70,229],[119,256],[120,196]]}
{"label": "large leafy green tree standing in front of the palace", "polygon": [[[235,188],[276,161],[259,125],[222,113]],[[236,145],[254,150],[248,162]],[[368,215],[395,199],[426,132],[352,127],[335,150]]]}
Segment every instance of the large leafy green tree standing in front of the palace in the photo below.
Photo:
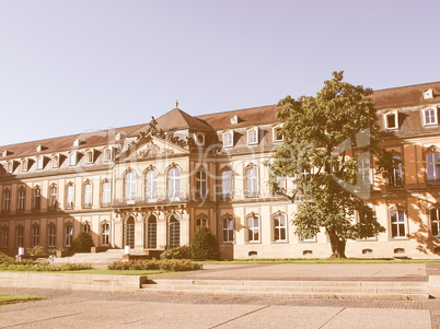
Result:
{"label": "large leafy green tree standing in front of the palace", "polygon": [[[344,71],[312,96],[287,96],[277,117],[285,121],[283,143],[271,162],[271,189],[302,200],[293,214],[296,233],[313,236],[325,230],[333,258],[345,258],[347,239],[384,232],[368,205],[370,166],[383,177],[391,155],[381,149],[381,130],[372,90],[343,81]],[[286,190],[278,177],[293,180]]]}

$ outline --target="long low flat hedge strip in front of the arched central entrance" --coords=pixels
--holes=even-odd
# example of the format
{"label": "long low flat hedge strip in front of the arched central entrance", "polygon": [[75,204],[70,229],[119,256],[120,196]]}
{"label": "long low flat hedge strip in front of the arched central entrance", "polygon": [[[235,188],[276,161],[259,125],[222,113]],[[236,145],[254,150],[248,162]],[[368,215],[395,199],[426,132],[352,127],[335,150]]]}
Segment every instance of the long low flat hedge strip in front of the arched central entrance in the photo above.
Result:
{"label": "long low flat hedge strip in front of the arched central entrance", "polygon": [[189,259],[178,259],[178,260],[129,260],[129,261],[115,261],[108,266],[108,270],[163,270],[163,271],[190,271],[199,270],[201,268],[198,263],[193,263]]}

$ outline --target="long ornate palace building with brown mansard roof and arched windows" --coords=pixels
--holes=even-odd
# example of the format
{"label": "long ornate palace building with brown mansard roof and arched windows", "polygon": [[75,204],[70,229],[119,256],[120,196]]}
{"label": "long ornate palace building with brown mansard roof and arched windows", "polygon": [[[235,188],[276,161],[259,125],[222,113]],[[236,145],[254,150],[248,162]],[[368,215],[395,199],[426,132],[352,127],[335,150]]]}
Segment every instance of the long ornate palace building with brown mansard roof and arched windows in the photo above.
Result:
{"label": "long ornate palace building with brown mansard roof and arched windows", "polygon": [[[372,98],[383,146],[402,165],[384,179],[372,158],[359,163],[386,232],[347,242],[346,255],[438,258],[440,82]],[[208,226],[224,259],[328,257],[325,232],[294,233],[301,199],[269,190],[267,162],[282,143],[277,110],[190,116],[176,107],[146,125],[1,146],[0,251],[68,249],[81,231],[95,246],[164,250]],[[288,178],[279,184],[292,188]]]}

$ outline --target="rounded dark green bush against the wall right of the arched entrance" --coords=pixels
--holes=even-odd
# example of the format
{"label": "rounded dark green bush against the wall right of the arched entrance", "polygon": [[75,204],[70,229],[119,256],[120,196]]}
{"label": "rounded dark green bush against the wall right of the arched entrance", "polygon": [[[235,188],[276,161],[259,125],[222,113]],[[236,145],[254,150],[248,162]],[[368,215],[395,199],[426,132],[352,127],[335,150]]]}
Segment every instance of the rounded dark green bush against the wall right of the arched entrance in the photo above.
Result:
{"label": "rounded dark green bush against the wall right of the arched entrance", "polygon": [[206,227],[199,227],[190,240],[193,249],[193,259],[219,259],[219,243],[211,231]]}

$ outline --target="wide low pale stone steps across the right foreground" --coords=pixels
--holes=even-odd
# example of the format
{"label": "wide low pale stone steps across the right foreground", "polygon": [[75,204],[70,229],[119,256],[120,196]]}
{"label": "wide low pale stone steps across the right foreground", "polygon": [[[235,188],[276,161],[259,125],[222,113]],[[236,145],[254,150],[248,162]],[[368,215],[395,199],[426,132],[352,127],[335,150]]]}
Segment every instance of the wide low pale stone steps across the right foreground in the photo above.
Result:
{"label": "wide low pale stone steps across the right foreground", "polygon": [[262,281],[157,279],[142,284],[150,293],[254,295],[310,298],[428,299],[428,282]]}

